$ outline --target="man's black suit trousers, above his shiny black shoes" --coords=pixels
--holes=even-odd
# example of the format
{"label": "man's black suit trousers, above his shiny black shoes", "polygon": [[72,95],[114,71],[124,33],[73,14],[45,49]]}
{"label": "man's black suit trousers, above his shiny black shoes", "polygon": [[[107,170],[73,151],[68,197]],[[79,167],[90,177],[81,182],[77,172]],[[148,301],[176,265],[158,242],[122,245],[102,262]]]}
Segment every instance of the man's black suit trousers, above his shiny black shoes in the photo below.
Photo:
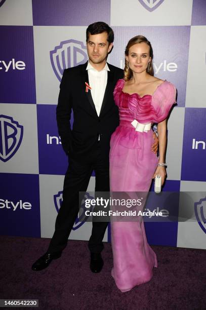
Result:
{"label": "man's black suit trousers, above his shiny black shoes", "polygon": [[[49,253],[62,251],[68,241],[70,231],[79,211],[79,191],[86,192],[92,171],[95,171],[95,191],[109,191],[109,157],[105,157],[100,149],[101,141],[97,141],[87,162],[69,158],[69,166],[64,178],[63,201],[59,209],[55,232],[48,248]],[[108,222],[93,222],[89,249],[93,253],[103,250],[102,240]]]}

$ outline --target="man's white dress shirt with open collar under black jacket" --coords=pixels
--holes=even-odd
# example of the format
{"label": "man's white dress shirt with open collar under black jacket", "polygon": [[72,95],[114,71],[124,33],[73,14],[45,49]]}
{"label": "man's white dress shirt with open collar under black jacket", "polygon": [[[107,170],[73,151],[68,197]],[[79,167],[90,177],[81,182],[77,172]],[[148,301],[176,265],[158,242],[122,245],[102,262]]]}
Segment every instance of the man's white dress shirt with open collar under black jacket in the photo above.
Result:
{"label": "man's white dress shirt with open collar under black jacket", "polygon": [[107,71],[110,70],[106,63],[104,68],[101,71],[98,71],[91,65],[89,61],[87,65],[87,70],[89,76],[89,85],[92,88],[91,89],[92,99],[94,101],[97,115],[99,116],[107,85]]}

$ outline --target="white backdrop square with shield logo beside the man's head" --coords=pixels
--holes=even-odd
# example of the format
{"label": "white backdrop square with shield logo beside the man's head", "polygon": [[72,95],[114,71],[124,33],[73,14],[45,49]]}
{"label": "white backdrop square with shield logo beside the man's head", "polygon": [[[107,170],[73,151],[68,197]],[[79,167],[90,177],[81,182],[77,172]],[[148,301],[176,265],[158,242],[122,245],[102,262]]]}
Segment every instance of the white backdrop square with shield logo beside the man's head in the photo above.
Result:
{"label": "white backdrop square with shield logo beside the man's head", "polygon": [[[67,40],[77,40],[86,45],[86,29],[87,27],[80,26],[33,27],[37,104],[57,104],[58,101],[60,81],[53,70],[50,51]],[[72,63],[72,55],[68,55],[68,57]]]}

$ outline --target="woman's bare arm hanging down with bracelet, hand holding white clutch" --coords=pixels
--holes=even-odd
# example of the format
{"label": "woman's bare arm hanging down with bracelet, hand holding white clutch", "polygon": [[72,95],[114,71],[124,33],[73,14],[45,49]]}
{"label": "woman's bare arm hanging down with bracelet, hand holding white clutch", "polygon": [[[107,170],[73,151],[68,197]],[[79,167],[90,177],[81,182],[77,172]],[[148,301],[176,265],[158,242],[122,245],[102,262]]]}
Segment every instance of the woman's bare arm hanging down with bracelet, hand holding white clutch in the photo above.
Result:
{"label": "woman's bare arm hanging down with bracelet, hand holding white clutch", "polygon": [[[165,163],[166,158],[166,147],[167,147],[167,120],[162,121],[161,123],[157,124],[157,133],[159,139],[159,164]],[[153,178],[157,174],[161,175],[161,184],[164,183],[166,178],[166,168],[158,166],[154,172]]]}

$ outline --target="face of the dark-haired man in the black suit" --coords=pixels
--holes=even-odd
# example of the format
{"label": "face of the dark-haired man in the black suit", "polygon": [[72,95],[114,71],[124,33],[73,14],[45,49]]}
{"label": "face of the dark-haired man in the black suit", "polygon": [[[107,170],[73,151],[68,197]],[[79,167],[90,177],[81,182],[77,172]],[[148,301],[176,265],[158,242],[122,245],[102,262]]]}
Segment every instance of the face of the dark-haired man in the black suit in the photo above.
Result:
{"label": "face of the dark-haired man in the black suit", "polygon": [[107,41],[107,32],[89,34],[87,53],[92,64],[101,64],[106,61],[107,54],[111,51],[112,43]]}

